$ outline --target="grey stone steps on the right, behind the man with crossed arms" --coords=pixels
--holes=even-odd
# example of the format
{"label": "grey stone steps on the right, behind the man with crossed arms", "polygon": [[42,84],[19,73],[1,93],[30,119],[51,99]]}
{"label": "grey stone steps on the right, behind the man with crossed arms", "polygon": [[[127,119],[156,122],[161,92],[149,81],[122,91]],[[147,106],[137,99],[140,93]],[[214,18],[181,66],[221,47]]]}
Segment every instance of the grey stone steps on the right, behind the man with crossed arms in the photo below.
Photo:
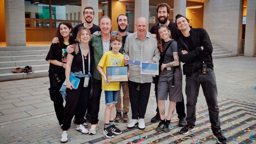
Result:
{"label": "grey stone steps on the right, behind the man with crossed arms", "polygon": [[218,46],[217,44],[212,44],[212,46],[213,46],[213,52],[212,52],[213,59],[237,56],[237,54],[232,54],[231,51],[227,51],[227,49],[223,49],[221,46]]}

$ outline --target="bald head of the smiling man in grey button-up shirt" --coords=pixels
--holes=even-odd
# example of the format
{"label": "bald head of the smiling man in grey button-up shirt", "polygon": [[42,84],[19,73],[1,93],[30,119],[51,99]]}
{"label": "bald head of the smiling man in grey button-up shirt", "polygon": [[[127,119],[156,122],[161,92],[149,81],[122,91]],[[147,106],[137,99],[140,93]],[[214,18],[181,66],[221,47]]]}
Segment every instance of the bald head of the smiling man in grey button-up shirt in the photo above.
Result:
{"label": "bald head of the smiling man in grey button-up shirt", "polygon": [[135,26],[137,28],[139,38],[143,40],[146,37],[148,28],[147,19],[145,19],[144,17],[138,18]]}

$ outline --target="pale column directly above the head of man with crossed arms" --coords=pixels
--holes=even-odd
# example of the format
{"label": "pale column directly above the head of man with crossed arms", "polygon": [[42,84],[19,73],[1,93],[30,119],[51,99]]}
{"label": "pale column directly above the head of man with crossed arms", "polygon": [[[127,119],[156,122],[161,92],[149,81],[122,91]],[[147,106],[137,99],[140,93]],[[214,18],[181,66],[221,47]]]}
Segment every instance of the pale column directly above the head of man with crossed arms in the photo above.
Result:
{"label": "pale column directly above the head of man with crossed arms", "polygon": [[187,0],[174,0],[173,5],[173,21],[175,22],[175,17],[177,14],[186,16]]}

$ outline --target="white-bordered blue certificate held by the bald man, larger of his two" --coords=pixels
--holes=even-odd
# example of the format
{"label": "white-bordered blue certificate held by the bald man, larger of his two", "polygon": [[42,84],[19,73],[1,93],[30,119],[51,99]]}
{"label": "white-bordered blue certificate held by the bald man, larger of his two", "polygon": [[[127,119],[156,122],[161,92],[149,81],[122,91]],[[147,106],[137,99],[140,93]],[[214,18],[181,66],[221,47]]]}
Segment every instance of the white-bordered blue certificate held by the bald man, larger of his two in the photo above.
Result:
{"label": "white-bordered blue certificate held by the bald man, larger of his two", "polygon": [[142,62],[140,73],[141,74],[150,74],[150,75],[159,75],[158,63]]}

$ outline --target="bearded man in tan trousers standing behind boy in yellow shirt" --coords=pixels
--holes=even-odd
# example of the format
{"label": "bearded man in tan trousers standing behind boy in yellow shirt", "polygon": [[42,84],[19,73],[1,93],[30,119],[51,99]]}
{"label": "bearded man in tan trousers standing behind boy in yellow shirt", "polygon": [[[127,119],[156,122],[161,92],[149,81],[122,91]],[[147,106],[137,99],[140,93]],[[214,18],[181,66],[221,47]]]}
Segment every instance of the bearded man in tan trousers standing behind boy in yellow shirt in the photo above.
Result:
{"label": "bearded man in tan trousers standing behind boy in yellow shirt", "polygon": [[[120,35],[123,43],[123,47],[125,45],[125,40],[126,37],[131,34],[128,31],[126,31],[128,27],[128,17],[124,14],[120,14],[117,17],[117,26],[118,30],[113,31],[112,33],[114,35]],[[120,49],[120,53],[123,54],[123,47]],[[123,109],[122,109],[122,99],[121,99],[121,87],[123,88]],[[117,98],[117,104],[115,105],[116,107],[116,117],[115,117],[115,122],[129,122],[128,118],[128,112],[130,108],[130,97],[129,97],[129,88],[128,88],[128,82],[120,82],[120,90],[118,93],[118,98]],[[122,115],[123,111],[123,115]]]}

